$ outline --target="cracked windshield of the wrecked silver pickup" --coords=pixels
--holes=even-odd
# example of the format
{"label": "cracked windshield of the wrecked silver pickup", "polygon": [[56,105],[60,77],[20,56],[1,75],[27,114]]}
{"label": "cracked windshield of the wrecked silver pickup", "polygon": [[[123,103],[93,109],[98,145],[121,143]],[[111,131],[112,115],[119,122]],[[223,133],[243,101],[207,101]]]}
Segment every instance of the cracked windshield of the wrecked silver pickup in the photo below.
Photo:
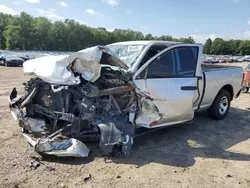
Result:
{"label": "cracked windshield of the wrecked silver pickup", "polygon": [[141,55],[146,45],[110,45],[109,49],[118,56],[126,65],[131,67]]}

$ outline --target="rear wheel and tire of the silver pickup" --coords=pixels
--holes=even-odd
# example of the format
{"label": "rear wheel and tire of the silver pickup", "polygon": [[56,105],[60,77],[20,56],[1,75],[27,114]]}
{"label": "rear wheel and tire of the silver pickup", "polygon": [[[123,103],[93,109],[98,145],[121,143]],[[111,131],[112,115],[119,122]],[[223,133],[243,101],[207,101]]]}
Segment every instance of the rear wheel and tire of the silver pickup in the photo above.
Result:
{"label": "rear wheel and tire of the silver pickup", "polygon": [[232,98],[229,92],[222,89],[214,99],[211,107],[208,109],[208,115],[215,120],[224,119],[228,114],[231,100]]}

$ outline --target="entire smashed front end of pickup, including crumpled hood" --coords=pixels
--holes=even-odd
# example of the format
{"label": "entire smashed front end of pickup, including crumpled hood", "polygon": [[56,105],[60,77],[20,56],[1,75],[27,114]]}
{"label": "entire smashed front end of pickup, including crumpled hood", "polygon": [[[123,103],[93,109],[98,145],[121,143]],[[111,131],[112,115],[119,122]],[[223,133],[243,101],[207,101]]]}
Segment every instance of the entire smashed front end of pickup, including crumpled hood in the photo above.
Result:
{"label": "entire smashed front end of pickup, including crumpled hood", "polygon": [[[153,103],[137,91],[128,67],[102,46],[70,56],[28,60],[24,73],[36,75],[24,83],[24,95],[14,88],[11,114],[36,152],[56,156],[87,157],[86,141],[100,140],[106,153],[128,154],[136,121],[147,120]],[[153,105],[154,114],[157,108]],[[156,109],[156,110],[155,110]]]}

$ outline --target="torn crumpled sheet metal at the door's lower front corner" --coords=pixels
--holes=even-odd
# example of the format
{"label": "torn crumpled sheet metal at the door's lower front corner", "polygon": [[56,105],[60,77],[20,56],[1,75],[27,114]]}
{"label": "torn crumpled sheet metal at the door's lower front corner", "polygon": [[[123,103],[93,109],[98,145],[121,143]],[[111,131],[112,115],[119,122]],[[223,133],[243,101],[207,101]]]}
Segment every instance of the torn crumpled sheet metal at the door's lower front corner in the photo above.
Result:
{"label": "torn crumpled sheet metal at the door's lower front corner", "polygon": [[152,100],[141,98],[141,110],[139,111],[136,118],[136,125],[142,127],[151,127],[152,124],[158,122],[161,119],[159,109],[153,103]]}

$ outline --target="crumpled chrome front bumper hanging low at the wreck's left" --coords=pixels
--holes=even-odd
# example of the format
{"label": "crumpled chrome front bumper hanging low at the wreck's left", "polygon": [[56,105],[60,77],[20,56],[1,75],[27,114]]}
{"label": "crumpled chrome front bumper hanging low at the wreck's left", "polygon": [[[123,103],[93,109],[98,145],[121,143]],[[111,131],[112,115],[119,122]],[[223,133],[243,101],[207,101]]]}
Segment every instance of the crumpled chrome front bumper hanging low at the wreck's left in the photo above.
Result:
{"label": "crumpled chrome front bumper hanging low at the wreck's left", "polygon": [[13,107],[18,101],[20,98],[11,100],[9,97],[11,115],[22,128],[23,137],[36,152],[57,157],[88,157],[88,147],[75,138],[63,137],[61,135],[63,129],[46,136],[45,121],[27,117],[23,109]]}

